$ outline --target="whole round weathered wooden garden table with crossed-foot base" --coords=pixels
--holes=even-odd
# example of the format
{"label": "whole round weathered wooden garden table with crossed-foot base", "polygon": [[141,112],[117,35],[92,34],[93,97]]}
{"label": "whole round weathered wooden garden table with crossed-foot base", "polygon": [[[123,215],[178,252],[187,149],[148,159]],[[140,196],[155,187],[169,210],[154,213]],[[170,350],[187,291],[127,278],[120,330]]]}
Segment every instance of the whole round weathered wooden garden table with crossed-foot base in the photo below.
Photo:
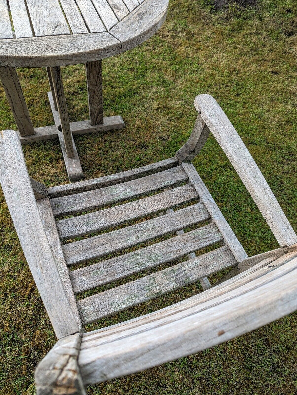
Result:
{"label": "whole round weathered wooden garden table with crossed-foot base", "polygon": [[[69,179],[81,179],[73,134],[125,126],[120,116],[103,118],[102,59],[151,37],[167,7],[168,0],[0,0],[0,79],[21,143],[58,137]],[[90,119],[70,123],[60,66],[79,63],[86,65]],[[55,125],[34,128],[16,67],[47,68]]]}

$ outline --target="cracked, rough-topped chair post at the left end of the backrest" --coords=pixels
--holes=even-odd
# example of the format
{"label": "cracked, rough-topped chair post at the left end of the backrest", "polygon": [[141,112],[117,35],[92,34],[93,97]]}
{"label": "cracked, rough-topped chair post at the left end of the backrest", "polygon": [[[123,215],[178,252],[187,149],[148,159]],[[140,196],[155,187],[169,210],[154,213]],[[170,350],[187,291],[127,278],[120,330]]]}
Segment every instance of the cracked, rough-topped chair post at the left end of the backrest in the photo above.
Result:
{"label": "cracked, rough-topped chair post at the left end of the backrest", "polygon": [[77,363],[79,333],[58,340],[35,371],[36,395],[86,395]]}

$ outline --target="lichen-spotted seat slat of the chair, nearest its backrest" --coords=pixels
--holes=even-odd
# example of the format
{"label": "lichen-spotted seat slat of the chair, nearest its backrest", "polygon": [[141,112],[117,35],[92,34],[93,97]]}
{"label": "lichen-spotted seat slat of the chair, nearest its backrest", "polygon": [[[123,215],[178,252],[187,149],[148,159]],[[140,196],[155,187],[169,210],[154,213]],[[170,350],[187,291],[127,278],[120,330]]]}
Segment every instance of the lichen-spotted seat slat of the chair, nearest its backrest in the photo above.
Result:
{"label": "lichen-spotted seat slat of the chair, nearest its backrest", "polygon": [[227,246],[167,267],[148,276],[77,301],[83,324],[116,314],[129,307],[191,284],[201,277],[236,265]]}

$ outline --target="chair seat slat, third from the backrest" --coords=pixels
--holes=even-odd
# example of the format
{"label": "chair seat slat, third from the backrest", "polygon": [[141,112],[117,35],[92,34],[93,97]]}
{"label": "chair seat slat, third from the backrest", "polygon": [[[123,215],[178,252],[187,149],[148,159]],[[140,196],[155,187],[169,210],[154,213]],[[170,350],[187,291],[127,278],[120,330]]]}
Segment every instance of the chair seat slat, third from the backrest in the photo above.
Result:
{"label": "chair seat slat, third from the backrest", "polygon": [[203,203],[198,203],[175,211],[173,214],[68,243],[62,248],[67,265],[75,265],[176,232],[209,218],[210,215]]}

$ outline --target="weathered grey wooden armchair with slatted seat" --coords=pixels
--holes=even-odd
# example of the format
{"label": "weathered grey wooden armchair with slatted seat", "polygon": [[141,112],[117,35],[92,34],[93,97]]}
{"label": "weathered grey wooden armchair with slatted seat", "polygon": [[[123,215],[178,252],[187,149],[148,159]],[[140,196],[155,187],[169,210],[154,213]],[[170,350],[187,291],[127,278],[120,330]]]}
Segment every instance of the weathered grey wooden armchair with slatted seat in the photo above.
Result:
{"label": "weathered grey wooden armchair with slatted seat", "polygon": [[[175,157],[51,188],[30,179],[17,134],[1,133],[1,185],[58,338],[36,369],[38,394],[85,394],[88,384],[204,350],[297,309],[295,232],[221,107],[205,94],[197,96],[194,105],[199,113],[194,130]],[[209,132],[280,248],[248,258],[190,162]],[[143,195],[148,196],[136,199]],[[95,211],[106,206],[110,207]],[[61,216],[67,217],[55,219]],[[152,218],[129,226],[130,221],[148,216]],[[109,230],[120,225],[124,226]],[[185,233],[189,227],[192,230]],[[107,231],[81,238],[102,230]],[[158,243],[68,269],[175,232]],[[195,251],[211,245],[209,252],[196,256]],[[132,282],[83,299],[75,297],[184,256],[188,259]],[[211,286],[207,276],[228,267],[234,268]],[[90,322],[197,280],[204,292],[194,297],[117,325],[83,331]]]}

